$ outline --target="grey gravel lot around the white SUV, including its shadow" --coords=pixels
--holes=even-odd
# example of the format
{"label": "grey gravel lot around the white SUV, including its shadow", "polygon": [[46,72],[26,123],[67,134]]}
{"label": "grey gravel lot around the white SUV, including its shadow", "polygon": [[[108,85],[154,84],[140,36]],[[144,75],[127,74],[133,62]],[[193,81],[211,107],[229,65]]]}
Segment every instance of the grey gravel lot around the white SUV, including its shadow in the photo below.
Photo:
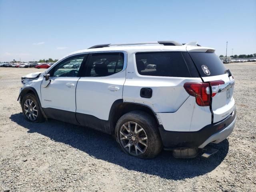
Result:
{"label": "grey gravel lot around the white SUV, including its shadow", "polygon": [[30,123],[16,101],[22,75],[0,68],[0,191],[256,191],[256,63],[227,64],[236,80],[234,132],[209,159],[153,160],[122,152],[111,136],[57,120]]}

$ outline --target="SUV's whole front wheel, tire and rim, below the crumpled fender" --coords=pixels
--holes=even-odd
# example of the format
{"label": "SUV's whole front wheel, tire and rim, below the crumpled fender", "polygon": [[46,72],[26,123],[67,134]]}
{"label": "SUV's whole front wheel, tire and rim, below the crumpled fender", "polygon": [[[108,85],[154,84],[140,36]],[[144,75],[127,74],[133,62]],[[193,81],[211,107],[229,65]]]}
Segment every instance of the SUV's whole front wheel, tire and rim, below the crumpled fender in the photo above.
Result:
{"label": "SUV's whole front wheel, tire and rim, below the crumpled fender", "polygon": [[26,120],[30,122],[42,122],[44,121],[44,116],[40,110],[40,106],[34,94],[26,94],[22,98],[21,102],[22,113]]}

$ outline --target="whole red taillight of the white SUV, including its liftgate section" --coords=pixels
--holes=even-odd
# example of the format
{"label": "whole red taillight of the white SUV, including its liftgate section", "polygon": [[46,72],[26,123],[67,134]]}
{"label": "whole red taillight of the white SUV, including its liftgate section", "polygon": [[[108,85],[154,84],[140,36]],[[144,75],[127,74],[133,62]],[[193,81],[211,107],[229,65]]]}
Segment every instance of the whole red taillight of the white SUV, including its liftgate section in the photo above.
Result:
{"label": "whole red taillight of the white SUV, including its liftgate section", "polygon": [[185,83],[184,88],[188,94],[196,97],[196,103],[199,106],[210,106],[210,86],[212,88],[212,97],[214,97],[218,93],[221,84],[224,84],[224,81]]}

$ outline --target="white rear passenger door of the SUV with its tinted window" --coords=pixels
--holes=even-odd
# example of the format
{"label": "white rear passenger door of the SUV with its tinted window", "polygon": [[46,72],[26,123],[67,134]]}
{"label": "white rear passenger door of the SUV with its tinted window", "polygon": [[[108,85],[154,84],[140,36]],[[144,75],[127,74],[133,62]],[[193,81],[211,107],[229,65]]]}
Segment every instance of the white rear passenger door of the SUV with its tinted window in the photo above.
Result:
{"label": "white rear passenger door of the SUV with its tinted window", "polygon": [[89,54],[76,87],[76,118],[80,124],[99,129],[100,120],[108,120],[112,104],[122,99],[126,65],[126,52]]}

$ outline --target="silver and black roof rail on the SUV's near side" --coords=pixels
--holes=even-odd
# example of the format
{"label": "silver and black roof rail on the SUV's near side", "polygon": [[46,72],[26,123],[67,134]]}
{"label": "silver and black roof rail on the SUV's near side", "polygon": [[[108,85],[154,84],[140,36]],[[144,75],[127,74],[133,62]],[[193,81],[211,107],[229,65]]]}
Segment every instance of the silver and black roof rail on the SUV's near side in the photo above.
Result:
{"label": "silver and black roof rail on the SUV's near side", "polygon": [[125,43],[125,44],[100,44],[94,45],[88,49],[93,48],[102,48],[102,47],[109,47],[109,46],[122,46],[122,45],[143,45],[143,44],[162,44],[165,46],[182,46],[182,44],[176,41],[156,41],[156,42],[138,42],[138,43]]}

